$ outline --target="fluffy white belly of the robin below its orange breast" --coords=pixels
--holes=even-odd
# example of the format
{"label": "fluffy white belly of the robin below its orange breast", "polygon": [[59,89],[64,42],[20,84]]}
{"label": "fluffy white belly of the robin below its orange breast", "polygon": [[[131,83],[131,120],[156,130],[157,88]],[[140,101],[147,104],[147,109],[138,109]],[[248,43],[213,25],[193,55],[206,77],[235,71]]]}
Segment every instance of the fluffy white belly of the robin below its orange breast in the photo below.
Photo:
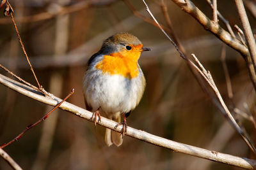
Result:
{"label": "fluffy white belly of the robin below its orange breast", "polygon": [[108,115],[127,113],[133,110],[142,97],[145,78],[140,70],[137,78],[124,78],[118,74],[102,74],[102,71],[91,68],[84,77],[84,96],[93,111],[101,108]]}

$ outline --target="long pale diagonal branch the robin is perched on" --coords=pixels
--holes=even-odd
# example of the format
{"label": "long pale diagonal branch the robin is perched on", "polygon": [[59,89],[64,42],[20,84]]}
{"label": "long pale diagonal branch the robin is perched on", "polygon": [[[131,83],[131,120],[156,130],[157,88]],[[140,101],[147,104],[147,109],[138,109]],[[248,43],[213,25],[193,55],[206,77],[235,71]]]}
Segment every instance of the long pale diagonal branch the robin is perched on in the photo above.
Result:
{"label": "long pale diagonal branch the robin is perched on", "polygon": [[[61,99],[52,94],[50,94],[51,97],[41,96],[36,90],[33,90],[31,87],[19,83],[18,81],[12,80],[2,74],[0,74],[0,83],[12,90],[15,90],[16,92],[19,92],[20,94],[23,94],[24,96],[28,96],[31,99],[35,99],[36,101],[40,101],[51,106],[55,106],[57,103],[61,102]],[[61,110],[69,111],[77,117],[81,117],[92,122],[92,112],[84,110],[83,108],[79,108],[74,104],[64,102],[63,104],[61,104],[59,108],[61,108]],[[99,122],[99,125],[103,127],[109,128],[113,131],[121,132],[122,126],[115,128],[116,124],[116,122],[104,117],[101,117],[101,122]],[[168,148],[170,150],[173,150],[174,152],[185,153],[187,155],[192,155],[195,157],[200,157],[203,159],[213,160],[216,162],[221,162],[224,164],[243,167],[247,169],[256,168],[256,160],[236,157],[225,153],[214,152],[211,150],[198,148],[196,146],[178,143],[175,141],[171,141],[169,139],[164,139],[159,136],[155,136],[153,134],[149,134],[148,132],[145,131],[134,129],[132,127],[127,127],[126,136],[130,136],[135,139],[140,139],[141,141],[151,143],[152,145]]]}

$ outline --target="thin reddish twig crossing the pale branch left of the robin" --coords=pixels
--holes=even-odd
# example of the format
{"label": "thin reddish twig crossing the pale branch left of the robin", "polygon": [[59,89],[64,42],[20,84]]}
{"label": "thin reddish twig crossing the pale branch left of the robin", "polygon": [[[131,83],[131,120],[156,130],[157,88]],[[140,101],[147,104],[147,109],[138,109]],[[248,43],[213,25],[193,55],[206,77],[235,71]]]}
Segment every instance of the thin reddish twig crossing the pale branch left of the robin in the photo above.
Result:
{"label": "thin reddish twig crossing the pale branch left of the robin", "polygon": [[57,108],[60,107],[60,105],[66,101],[68,99],[68,97],[70,97],[72,94],[74,94],[74,89],[71,90],[70,94],[68,94],[67,97],[65,97],[65,99],[63,99],[60,103],[58,103],[54,108],[52,108],[51,111],[49,111],[44,117],[40,118],[40,120],[38,120],[37,122],[35,122],[34,124],[30,124],[28,125],[28,127],[26,127],[26,129],[24,131],[22,131],[16,138],[12,139],[12,141],[8,142],[8,143],[4,143],[3,145],[0,146],[0,148],[4,148],[8,145],[10,145],[11,143],[13,143],[14,141],[18,141],[22,135],[29,131],[29,129],[31,129],[32,127],[35,127],[35,125],[39,124],[40,122],[42,122],[43,120],[45,120],[47,117],[49,117],[49,115],[52,113],[52,111],[56,110]]}

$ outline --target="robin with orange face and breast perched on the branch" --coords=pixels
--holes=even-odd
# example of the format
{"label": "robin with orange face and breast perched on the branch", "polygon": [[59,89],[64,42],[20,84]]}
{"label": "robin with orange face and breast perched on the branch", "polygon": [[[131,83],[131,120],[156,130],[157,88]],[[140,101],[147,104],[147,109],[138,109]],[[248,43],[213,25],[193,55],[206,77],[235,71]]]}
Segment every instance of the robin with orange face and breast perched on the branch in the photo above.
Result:
{"label": "robin with orange face and breast perched on the branch", "polygon": [[[141,52],[149,51],[130,33],[118,32],[105,39],[99,52],[90,57],[83,79],[86,110],[92,111],[96,127],[101,114],[123,125],[122,135],[106,128],[107,146],[120,146],[126,132],[126,118],[138,106],[146,81],[138,64]],[[124,117],[121,122],[121,115]]]}

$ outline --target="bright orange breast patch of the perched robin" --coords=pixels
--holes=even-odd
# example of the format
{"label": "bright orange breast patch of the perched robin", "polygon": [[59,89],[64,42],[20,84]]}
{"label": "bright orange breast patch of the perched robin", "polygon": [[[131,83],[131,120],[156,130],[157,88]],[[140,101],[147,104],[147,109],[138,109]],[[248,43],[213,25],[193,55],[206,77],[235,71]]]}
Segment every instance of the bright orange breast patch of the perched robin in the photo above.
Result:
{"label": "bright orange breast patch of the perched robin", "polygon": [[125,78],[135,78],[139,74],[137,61],[140,57],[140,52],[131,53],[130,56],[122,55],[122,53],[111,53],[104,55],[96,68],[102,70],[103,73],[119,74]]}

